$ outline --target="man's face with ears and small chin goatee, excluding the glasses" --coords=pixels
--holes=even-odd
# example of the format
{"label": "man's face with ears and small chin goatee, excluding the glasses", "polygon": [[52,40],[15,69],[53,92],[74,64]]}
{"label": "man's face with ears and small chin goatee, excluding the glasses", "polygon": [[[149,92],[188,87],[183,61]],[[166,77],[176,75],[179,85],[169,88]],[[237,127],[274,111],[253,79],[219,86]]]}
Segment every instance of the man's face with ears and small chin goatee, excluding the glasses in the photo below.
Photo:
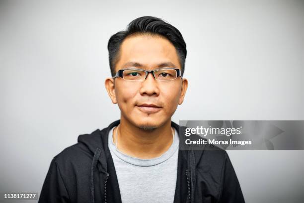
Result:
{"label": "man's face with ears and small chin goatee, excluding the glasses", "polygon": [[[115,71],[130,68],[180,69],[180,64],[175,47],[167,39],[136,35],[127,37],[121,44],[115,68]],[[187,89],[186,79],[178,77],[171,81],[157,81],[152,74],[148,74],[144,81],[126,81],[118,77],[107,79],[105,84],[112,102],[118,103],[121,119],[143,129],[153,129],[171,120]],[[147,106],[151,104],[157,107]]]}

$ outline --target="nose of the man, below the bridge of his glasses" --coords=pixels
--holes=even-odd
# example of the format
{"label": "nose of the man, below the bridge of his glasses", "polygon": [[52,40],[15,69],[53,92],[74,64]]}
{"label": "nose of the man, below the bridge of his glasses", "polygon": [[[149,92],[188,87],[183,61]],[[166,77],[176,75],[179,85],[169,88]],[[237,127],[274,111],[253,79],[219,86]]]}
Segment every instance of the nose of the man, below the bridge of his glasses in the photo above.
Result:
{"label": "nose of the man, below the bridge of his glasses", "polygon": [[140,88],[141,95],[148,95],[148,96],[158,96],[159,95],[159,88],[157,81],[154,79],[152,73],[148,73],[146,80],[142,82]]}

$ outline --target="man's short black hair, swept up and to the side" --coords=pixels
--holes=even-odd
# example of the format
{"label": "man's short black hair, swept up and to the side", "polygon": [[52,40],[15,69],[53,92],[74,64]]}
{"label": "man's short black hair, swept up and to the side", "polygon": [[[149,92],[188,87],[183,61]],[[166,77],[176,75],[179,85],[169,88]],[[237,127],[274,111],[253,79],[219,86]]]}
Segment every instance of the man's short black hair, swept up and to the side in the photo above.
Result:
{"label": "man's short black hair, swept up and to the side", "polygon": [[119,51],[122,42],[128,36],[136,34],[160,35],[168,39],[176,49],[181,66],[181,74],[184,74],[187,49],[180,31],[160,18],[143,16],[132,20],[125,31],[117,32],[110,37],[108,51],[112,77],[115,75],[115,65],[119,60]]}

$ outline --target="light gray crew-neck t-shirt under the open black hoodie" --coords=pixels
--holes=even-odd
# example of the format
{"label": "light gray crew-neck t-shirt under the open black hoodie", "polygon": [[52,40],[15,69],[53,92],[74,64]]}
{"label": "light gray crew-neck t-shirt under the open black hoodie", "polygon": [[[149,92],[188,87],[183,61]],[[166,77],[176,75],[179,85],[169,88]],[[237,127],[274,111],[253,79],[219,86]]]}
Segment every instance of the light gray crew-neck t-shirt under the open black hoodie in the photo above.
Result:
{"label": "light gray crew-neck t-shirt under the open black hoodie", "polygon": [[161,156],[139,159],[120,152],[109,132],[109,149],[113,158],[122,203],[173,203],[179,137],[175,129],[170,148]]}

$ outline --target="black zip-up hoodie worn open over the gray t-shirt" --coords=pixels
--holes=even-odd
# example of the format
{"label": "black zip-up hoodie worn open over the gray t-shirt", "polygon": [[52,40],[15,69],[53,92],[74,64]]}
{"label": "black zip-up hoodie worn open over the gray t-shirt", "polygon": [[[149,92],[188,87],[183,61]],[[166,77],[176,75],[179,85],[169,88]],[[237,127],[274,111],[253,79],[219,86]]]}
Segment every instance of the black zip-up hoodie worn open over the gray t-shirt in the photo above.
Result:
{"label": "black zip-up hoodie worn open over the gray t-shirt", "polygon": [[[109,130],[119,123],[79,135],[77,144],[55,156],[38,203],[121,203],[108,148]],[[171,126],[185,131],[173,121]],[[216,149],[179,150],[174,203],[244,203],[228,154]]]}

